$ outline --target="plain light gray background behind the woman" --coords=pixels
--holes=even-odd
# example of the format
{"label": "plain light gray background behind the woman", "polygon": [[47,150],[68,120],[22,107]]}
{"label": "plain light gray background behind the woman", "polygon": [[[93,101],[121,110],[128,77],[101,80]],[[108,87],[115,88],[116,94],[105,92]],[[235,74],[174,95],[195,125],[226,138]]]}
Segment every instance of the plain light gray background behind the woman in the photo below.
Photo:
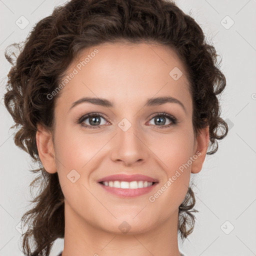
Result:
{"label": "plain light gray background behind the woman", "polygon": [[[64,2],[0,0],[0,256],[22,255],[18,226],[35,177],[28,171],[34,167],[30,156],[15,146],[9,129],[13,120],[2,96],[10,64],[3,52],[7,45],[24,40],[36,22]],[[199,212],[194,231],[179,247],[188,256],[256,255],[256,1],[175,2],[199,23],[222,56],[227,86],[219,99],[230,129],[218,151],[207,155],[202,170],[191,176]],[[15,23],[21,15],[29,21],[24,29]],[[50,255],[62,247],[63,239],[57,239]]]}

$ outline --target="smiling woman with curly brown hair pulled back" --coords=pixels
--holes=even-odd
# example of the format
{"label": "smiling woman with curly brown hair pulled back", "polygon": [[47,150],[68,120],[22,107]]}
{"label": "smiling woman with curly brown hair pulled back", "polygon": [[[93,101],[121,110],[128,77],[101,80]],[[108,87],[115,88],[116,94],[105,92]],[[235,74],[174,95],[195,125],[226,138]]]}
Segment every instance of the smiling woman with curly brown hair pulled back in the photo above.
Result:
{"label": "smiling woman with curly brown hair pulled back", "polygon": [[6,54],[14,141],[40,164],[25,255],[49,255],[57,238],[62,256],[183,255],[190,173],[227,134],[216,56],[165,0],[71,0],[36,24],[16,62]]}

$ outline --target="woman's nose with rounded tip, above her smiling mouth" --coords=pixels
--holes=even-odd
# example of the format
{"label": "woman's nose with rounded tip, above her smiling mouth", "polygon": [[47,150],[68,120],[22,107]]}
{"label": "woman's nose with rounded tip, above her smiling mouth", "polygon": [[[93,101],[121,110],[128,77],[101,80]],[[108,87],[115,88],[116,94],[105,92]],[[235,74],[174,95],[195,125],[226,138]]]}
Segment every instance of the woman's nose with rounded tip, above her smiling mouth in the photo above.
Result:
{"label": "woman's nose with rounded tip, above her smiling mouth", "polygon": [[128,166],[142,163],[149,157],[150,150],[146,146],[146,138],[135,126],[132,124],[127,130],[120,128],[121,125],[116,127],[116,135],[112,139],[112,161]]}

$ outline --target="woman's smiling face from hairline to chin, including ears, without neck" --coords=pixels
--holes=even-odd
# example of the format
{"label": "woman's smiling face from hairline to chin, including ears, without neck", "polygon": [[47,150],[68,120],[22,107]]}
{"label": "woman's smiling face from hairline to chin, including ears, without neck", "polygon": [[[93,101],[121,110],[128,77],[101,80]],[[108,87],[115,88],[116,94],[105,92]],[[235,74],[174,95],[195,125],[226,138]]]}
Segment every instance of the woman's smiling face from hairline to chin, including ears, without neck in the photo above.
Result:
{"label": "woman's smiling face from hairline to chin, including ears, without neck", "polygon": [[[174,51],[106,43],[82,51],[66,75],[72,78],[58,92],[54,140],[37,133],[37,146],[54,156],[39,150],[44,168],[57,171],[65,208],[83,223],[117,233],[123,221],[144,232],[177,214],[190,173],[201,169],[208,135],[194,136],[186,71]],[[107,178],[114,174],[125,176]],[[144,182],[150,178],[152,185]]]}

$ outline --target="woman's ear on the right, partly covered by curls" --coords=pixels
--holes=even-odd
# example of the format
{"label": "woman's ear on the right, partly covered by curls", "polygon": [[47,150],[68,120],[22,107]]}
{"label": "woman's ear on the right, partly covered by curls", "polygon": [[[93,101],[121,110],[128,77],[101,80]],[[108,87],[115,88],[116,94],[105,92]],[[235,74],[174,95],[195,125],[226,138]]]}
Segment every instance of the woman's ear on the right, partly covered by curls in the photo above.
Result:
{"label": "woman's ear on the right, partly covered by curls", "polygon": [[196,154],[197,158],[191,164],[192,173],[198,173],[202,168],[209,145],[209,126],[202,128],[195,140],[194,155]]}

